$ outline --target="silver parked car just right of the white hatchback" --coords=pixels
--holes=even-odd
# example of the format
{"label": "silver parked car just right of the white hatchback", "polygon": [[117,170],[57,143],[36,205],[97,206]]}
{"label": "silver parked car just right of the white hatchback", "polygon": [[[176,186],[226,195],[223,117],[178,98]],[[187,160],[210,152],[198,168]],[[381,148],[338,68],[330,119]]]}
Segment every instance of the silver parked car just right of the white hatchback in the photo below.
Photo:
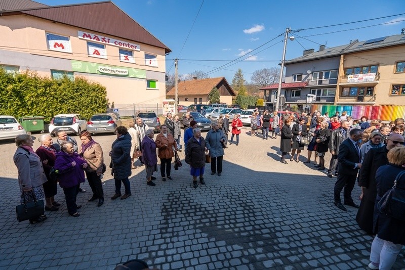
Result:
{"label": "silver parked car just right of the white hatchback", "polygon": [[121,119],[113,113],[99,113],[90,117],[87,122],[87,131],[90,133],[115,132],[117,126],[121,126]]}

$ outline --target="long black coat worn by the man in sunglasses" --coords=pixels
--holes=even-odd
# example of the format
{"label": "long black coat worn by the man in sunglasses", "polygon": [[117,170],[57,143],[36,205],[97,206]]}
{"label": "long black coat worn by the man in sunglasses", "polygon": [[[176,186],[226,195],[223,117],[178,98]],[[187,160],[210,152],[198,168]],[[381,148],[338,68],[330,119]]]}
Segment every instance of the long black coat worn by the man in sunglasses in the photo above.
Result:
{"label": "long black coat worn by the man in sunglasses", "polygon": [[376,171],[384,165],[388,165],[388,149],[383,147],[373,148],[366,154],[359,171],[358,185],[365,187],[364,195],[357,211],[356,221],[358,226],[368,234],[373,234],[374,204],[376,202]]}

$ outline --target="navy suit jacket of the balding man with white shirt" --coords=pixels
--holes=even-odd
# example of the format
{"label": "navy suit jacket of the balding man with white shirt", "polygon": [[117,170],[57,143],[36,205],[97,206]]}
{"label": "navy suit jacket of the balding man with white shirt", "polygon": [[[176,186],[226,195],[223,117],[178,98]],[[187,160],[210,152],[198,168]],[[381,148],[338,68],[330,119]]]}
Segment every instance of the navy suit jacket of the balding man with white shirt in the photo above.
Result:
{"label": "navy suit jacket of the balding man with white shirt", "polygon": [[354,169],[357,163],[360,162],[360,156],[350,138],[347,138],[339,147],[338,167],[337,171],[342,174],[357,175],[358,168]]}

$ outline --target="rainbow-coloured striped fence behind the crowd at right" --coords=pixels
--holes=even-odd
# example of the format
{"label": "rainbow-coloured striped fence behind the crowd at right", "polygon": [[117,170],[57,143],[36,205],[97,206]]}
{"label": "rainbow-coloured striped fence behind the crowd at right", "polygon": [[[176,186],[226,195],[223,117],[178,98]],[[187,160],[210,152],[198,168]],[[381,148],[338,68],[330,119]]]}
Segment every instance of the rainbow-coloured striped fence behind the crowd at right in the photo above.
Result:
{"label": "rainbow-coloured striped fence behind the crowd at right", "polygon": [[318,110],[323,114],[328,112],[330,116],[346,111],[353,119],[367,116],[369,120],[393,121],[396,118],[405,118],[405,106],[399,105],[312,105],[311,111]]}

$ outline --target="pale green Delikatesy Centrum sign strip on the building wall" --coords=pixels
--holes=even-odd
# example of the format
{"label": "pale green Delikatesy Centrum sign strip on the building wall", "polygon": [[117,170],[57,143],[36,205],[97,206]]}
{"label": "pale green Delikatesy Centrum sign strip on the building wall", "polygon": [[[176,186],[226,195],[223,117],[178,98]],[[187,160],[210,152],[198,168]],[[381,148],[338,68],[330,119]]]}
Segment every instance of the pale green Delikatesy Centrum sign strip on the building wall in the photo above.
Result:
{"label": "pale green Delikatesy Centrum sign strip on the building wall", "polygon": [[72,71],[75,72],[146,79],[146,71],[142,69],[122,67],[122,66],[110,66],[77,60],[71,60],[71,63],[72,63]]}

